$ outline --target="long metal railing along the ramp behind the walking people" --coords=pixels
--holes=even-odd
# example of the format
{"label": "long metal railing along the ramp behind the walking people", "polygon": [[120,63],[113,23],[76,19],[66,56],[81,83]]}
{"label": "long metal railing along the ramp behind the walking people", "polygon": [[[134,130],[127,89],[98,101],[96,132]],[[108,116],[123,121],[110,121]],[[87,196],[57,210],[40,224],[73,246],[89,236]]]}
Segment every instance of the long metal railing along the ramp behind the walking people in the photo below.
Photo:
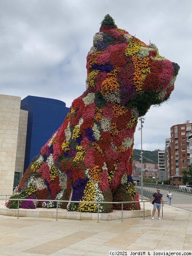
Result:
{"label": "long metal railing along the ramp behind the walking people", "polygon": [[[139,182],[137,182],[137,186],[141,186]],[[176,192],[182,192],[186,194],[192,194],[191,188],[183,188],[181,186],[171,186],[171,185],[164,185],[164,184],[155,184],[155,183],[143,183],[143,186],[150,187],[150,188],[159,188],[165,190],[171,190]]]}

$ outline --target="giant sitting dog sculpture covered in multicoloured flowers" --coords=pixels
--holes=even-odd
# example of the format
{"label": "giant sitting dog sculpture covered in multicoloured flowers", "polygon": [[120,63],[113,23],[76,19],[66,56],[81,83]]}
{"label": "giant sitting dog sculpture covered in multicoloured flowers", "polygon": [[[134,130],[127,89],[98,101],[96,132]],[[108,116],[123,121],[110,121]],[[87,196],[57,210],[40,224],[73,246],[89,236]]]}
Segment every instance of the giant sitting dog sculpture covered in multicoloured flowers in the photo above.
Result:
{"label": "giant sitting dog sculpture covered in multicoloured flowers", "polygon": [[69,211],[96,212],[97,204],[84,202],[98,201],[99,212],[111,212],[119,204],[102,202],[137,201],[131,178],[137,119],[169,98],[178,70],[154,44],[119,29],[106,15],[87,55],[85,92],[32,160],[13,196],[45,201],[23,201],[20,207],[54,207],[46,200],[58,199],[82,201],[59,204]]}

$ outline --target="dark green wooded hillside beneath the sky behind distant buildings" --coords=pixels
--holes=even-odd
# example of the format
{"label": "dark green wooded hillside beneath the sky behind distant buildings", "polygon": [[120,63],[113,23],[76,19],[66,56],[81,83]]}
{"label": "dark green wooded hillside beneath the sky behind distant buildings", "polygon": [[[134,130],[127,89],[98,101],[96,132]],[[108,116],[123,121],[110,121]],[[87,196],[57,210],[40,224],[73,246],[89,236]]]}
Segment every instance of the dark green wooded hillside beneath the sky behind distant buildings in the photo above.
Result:
{"label": "dark green wooded hillside beneath the sky behind distant buildings", "polygon": [[[155,149],[154,151],[143,150],[143,163],[158,163],[158,151],[162,151],[160,149]],[[134,149],[133,150],[133,159],[141,162],[140,156],[141,150]]]}

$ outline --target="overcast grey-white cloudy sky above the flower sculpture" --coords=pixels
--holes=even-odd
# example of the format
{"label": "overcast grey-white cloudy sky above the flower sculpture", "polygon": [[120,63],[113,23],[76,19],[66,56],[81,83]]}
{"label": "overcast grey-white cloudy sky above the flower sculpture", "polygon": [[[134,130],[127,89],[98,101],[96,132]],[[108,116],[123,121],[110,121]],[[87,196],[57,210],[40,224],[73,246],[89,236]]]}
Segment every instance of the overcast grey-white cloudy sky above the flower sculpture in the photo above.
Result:
{"label": "overcast grey-white cloudy sky above the flower sculpture", "polygon": [[106,14],[180,65],[169,102],[151,107],[143,124],[143,150],[163,150],[172,125],[192,122],[190,0],[0,0],[0,94],[59,99],[70,107],[85,90],[87,52]]}

